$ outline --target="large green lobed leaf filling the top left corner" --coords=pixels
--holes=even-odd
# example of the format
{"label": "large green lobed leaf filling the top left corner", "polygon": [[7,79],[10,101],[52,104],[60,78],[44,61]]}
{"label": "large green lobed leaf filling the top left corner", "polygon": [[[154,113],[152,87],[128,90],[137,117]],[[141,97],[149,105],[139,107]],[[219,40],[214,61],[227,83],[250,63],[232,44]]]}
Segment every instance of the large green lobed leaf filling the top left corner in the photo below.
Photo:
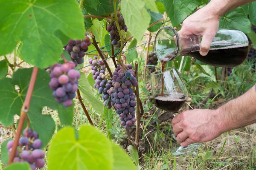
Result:
{"label": "large green lobed leaf filling the top left corner", "polygon": [[58,61],[63,43],[60,30],[69,38],[84,37],[84,18],[76,0],[0,1],[0,55],[11,53],[18,40],[26,62],[47,68]]}

